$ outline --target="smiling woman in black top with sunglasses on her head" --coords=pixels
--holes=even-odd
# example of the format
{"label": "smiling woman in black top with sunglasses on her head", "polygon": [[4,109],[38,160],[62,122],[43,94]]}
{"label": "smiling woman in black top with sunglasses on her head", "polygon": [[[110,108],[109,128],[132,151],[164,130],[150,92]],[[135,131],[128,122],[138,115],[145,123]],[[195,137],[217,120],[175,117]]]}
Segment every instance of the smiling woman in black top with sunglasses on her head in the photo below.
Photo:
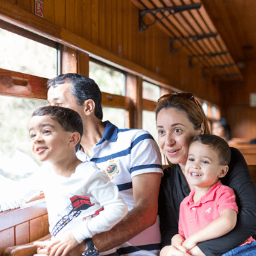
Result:
{"label": "smiling woman in black top with sunglasses on her head", "polygon": [[[156,124],[161,151],[170,164],[164,170],[159,197],[163,247],[160,256],[188,255],[182,245],[170,244],[178,233],[179,205],[193,188],[184,176],[188,145],[196,135],[209,133],[207,119],[191,93],[175,93],[158,100]],[[229,170],[222,182],[236,193],[239,210],[236,227],[221,238],[199,243],[190,251],[192,255],[222,255],[255,233],[256,186],[242,154],[235,148],[231,148],[231,152]]]}

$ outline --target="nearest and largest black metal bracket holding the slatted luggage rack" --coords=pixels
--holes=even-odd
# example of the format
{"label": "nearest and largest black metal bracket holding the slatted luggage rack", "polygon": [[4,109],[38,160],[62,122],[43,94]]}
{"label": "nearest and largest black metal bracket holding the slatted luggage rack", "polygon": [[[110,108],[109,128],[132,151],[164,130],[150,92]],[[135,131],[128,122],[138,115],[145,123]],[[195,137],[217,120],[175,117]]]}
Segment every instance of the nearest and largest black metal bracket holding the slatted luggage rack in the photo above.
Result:
{"label": "nearest and largest black metal bracket holding the slatted luggage rack", "polygon": [[[175,6],[175,7],[166,7],[166,8],[159,8],[159,9],[150,9],[150,10],[143,10],[140,11],[140,32],[146,31],[148,27],[153,26],[156,21],[161,21],[163,18],[168,18],[170,15],[173,15],[177,12],[182,12],[182,11],[189,11],[189,10],[194,10],[194,9],[200,9],[201,4],[197,3],[194,5],[181,5],[181,6]],[[162,14],[161,18],[158,18],[156,14],[160,12]],[[151,13],[154,15],[154,21],[151,24],[146,24],[143,21],[143,18],[145,14]]]}

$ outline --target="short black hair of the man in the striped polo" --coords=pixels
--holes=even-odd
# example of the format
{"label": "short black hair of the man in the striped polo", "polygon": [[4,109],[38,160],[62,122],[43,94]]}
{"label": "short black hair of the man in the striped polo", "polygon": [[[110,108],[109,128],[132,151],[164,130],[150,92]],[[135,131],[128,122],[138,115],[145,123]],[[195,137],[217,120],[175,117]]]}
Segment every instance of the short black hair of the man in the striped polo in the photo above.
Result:
{"label": "short black hair of the man in the striped polo", "polygon": [[56,85],[61,85],[66,82],[70,82],[72,84],[70,87],[70,93],[75,96],[77,105],[81,106],[85,100],[93,100],[95,102],[95,116],[102,120],[102,95],[95,81],[85,75],[68,73],[49,79],[49,81],[47,81],[47,87],[49,88],[52,86],[55,88]]}

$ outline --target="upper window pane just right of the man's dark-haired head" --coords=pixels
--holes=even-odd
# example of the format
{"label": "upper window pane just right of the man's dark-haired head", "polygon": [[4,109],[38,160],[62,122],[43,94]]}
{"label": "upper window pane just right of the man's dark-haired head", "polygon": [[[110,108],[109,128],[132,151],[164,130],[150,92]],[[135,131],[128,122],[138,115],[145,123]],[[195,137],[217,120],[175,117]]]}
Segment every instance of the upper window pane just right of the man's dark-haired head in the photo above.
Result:
{"label": "upper window pane just right of the man's dark-haired head", "polygon": [[125,96],[125,74],[123,72],[90,60],[89,77],[95,80],[100,91]]}

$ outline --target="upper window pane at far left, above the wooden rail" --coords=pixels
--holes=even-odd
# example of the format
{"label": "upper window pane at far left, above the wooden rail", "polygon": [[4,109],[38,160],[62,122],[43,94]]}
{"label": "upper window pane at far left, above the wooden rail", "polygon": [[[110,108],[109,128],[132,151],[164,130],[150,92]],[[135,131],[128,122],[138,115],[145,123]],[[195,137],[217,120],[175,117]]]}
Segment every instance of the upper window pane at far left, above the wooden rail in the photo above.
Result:
{"label": "upper window pane at far left, above the wooden rail", "polygon": [[0,41],[0,68],[45,78],[57,75],[56,48],[1,28]]}

